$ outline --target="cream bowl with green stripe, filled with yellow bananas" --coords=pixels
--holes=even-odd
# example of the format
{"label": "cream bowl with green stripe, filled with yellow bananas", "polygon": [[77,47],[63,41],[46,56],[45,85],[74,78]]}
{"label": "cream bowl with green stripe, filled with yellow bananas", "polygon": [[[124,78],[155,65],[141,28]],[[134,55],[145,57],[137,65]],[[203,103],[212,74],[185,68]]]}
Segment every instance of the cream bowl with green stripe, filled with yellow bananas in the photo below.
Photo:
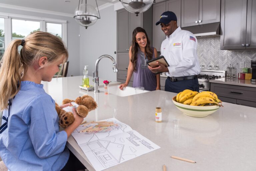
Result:
{"label": "cream bowl with green stripe, filled with yellow bananas", "polygon": [[201,93],[192,90],[184,90],[172,98],[174,105],[184,114],[193,117],[205,117],[222,106],[218,96],[210,91]]}

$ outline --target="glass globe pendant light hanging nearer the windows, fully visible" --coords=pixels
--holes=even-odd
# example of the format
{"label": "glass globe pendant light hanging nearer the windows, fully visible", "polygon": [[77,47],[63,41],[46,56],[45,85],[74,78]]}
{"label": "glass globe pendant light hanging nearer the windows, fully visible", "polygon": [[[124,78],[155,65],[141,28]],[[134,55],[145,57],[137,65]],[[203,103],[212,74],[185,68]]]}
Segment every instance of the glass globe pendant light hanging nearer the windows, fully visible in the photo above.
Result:
{"label": "glass globe pendant light hanging nearer the windows, fully visible", "polygon": [[92,5],[87,4],[87,0],[85,0],[85,4],[83,4],[83,0],[80,4],[80,0],[79,0],[78,7],[75,10],[74,19],[79,25],[84,26],[86,29],[87,27],[95,24],[96,21],[100,18],[100,12],[98,9],[97,0],[95,1],[96,1],[98,12]]}

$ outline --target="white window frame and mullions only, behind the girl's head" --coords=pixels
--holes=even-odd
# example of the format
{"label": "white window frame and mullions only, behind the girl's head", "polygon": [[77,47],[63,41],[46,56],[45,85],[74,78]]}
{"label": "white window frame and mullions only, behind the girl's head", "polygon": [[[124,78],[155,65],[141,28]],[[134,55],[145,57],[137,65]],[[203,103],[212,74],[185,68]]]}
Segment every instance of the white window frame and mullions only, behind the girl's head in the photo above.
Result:
{"label": "white window frame and mullions only, behind the girl's head", "polygon": [[29,21],[38,21],[40,22],[40,31],[46,32],[46,23],[54,23],[62,25],[62,41],[67,44],[67,20],[59,20],[52,18],[44,18],[44,17],[33,17],[28,15],[19,15],[19,14],[9,14],[9,13],[1,13],[0,18],[4,18],[4,42],[5,42],[5,50],[9,43],[12,41],[12,19],[20,19],[20,20],[29,20]]}

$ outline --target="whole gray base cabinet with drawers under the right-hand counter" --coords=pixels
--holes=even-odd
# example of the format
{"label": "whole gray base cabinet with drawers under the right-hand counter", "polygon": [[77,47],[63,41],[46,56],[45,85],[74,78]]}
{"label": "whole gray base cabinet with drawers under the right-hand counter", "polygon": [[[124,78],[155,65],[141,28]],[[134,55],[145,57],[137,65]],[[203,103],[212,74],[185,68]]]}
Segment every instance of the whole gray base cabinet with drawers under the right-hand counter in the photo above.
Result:
{"label": "whole gray base cabinet with drawers under the right-hand counter", "polygon": [[210,83],[210,91],[224,102],[256,107],[256,88]]}

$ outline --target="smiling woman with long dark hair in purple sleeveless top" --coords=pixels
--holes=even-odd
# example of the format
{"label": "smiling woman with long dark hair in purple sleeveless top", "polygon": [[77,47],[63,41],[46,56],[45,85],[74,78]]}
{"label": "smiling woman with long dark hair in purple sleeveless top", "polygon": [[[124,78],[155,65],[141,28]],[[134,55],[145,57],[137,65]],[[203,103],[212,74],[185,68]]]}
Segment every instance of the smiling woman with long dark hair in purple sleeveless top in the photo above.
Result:
{"label": "smiling woman with long dark hair in purple sleeveless top", "polygon": [[156,48],[150,47],[146,31],[137,27],[132,33],[132,46],[129,50],[129,66],[126,82],[119,88],[126,87],[133,75],[133,87],[144,87],[145,90],[160,90],[160,75],[155,75],[148,69],[147,61],[157,57]]}

